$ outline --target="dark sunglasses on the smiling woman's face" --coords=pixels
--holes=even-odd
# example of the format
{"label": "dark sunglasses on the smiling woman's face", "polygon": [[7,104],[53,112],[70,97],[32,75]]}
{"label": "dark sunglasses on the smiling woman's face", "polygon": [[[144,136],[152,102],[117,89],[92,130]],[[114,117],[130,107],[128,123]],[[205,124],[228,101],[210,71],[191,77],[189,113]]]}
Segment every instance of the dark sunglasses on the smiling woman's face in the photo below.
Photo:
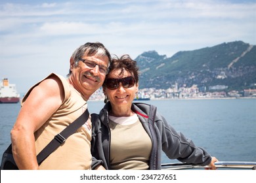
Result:
{"label": "dark sunglasses on the smiling woman's face", "polygon": [[119,88],[119,83],[121,82],[123,88],[131,88],[135,85],[135,78],[129,76],[126,78],[108,78],[104,82],[104,86],[110,90],[116,90]]}

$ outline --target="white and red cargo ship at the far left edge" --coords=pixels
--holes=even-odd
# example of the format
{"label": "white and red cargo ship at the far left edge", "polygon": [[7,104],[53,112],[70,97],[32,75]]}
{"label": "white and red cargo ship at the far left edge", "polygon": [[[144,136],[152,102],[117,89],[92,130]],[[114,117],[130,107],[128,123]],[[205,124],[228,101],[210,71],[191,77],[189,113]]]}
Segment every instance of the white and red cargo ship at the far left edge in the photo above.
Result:
{"label": "white and red cargo ship at the far left edge", "polygon": [[8,78],[0,81],[0,103],[18,103],[20,94],[16,90],[15,84],[9,84]]}

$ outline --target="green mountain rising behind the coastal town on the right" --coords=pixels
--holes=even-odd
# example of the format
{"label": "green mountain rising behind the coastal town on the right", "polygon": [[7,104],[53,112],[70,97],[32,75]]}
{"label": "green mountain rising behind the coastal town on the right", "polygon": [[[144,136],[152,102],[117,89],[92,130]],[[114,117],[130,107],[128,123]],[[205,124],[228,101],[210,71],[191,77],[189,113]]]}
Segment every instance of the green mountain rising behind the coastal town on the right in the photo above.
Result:
{"label": "green mountain rising behind the coastal town on the right", "polygon": [[[244,90],[256,85],[256,46],[242,41],[181,51],[171,58],[156,51],[140,54],[140,88],[198,87]],[[219,87],[218,87],[219,86]]]}

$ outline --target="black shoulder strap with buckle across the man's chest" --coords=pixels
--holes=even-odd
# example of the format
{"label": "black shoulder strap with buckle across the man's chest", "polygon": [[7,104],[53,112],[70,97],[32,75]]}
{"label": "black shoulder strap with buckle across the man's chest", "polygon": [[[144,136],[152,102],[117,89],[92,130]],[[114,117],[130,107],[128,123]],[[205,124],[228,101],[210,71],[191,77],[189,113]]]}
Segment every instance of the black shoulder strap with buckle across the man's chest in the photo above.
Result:
{"label": "black shoulder strap with buckle across the man's chest", "polygon": [[88,109],[79,116],[72,124],[68,125],[62,132],[58,133],[54,139],[39,152],[37,155],[37,162],[40,163],[45,160],[60,144],[66,141],[70,135],[72,135],[81,125],[85,124],[89,118]]}

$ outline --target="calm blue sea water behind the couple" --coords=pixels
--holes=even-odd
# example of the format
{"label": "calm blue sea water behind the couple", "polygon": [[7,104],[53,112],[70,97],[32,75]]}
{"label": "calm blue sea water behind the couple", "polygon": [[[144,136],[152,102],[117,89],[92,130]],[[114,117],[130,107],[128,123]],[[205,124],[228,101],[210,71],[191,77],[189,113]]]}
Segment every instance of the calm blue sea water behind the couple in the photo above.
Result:
{"label": "calm blue sea water behind the couple", "polygon": [[[167,122],[219,161],[256,161],[256,99],[173,99],[143,101],[155,105]],[[103,101],[89,101],[98,113]],[[0,154],[20,103],[0,104]],[[177,162],[163,154],[162,163]]]}

